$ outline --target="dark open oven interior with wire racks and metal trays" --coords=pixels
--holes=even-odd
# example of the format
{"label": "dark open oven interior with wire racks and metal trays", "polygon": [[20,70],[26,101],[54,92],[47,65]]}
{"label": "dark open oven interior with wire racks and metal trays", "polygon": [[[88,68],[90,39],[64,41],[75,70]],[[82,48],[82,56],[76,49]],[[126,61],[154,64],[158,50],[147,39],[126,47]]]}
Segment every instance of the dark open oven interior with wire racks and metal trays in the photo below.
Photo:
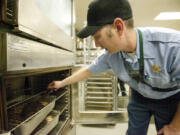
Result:
{"label": "dark open oven interior with wire racks and metal trays", "polygon": [[71,120],[71,87],[50,92],[47,86],[70,74],[67,69],[5,78],[5,130],[15,135],[60,133]]}

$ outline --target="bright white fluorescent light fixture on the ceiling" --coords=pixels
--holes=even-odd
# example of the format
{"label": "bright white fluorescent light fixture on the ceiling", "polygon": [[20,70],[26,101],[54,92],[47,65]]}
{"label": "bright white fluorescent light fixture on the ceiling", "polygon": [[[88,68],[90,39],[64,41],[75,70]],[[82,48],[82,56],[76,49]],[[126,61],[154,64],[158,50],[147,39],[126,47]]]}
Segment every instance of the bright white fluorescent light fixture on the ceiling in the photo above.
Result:
{"label": "bright white fluorescent light fixture on the ceiling", "polygon": [[180,20],[180,12],[161,12],[154,20]]}

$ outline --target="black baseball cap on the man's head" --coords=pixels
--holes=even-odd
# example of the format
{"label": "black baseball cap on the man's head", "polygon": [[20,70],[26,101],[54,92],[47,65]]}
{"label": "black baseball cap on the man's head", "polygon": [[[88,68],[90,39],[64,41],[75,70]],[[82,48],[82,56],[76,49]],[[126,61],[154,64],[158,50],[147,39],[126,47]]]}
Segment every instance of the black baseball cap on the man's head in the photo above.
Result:
{"label": "black baseball cap on the man's head", "polygon": [[102,26],[113,24],[116,17],[122,20],[132,18],[128,0],[93,0],[88,6],[87,26],[77,33],[80,38],[93,35]]}

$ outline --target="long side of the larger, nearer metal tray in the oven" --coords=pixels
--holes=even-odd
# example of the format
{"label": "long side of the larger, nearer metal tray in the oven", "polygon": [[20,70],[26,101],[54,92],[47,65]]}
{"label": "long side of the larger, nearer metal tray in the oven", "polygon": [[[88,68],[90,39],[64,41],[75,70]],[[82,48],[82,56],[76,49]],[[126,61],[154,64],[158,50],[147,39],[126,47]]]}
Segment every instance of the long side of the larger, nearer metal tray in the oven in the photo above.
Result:
{"label": "long side of the larger, nearer metal tray in the oven", "polygon": [[51,101],[48,105],[46,105],[39,112],[35,113],[31,117],[29,117],[26,121],[22,122],[20,125],[17,125],[14,129],[15,135],[29,135],[44,119],[45,117],[52,111],[55,106],[55,100]]}

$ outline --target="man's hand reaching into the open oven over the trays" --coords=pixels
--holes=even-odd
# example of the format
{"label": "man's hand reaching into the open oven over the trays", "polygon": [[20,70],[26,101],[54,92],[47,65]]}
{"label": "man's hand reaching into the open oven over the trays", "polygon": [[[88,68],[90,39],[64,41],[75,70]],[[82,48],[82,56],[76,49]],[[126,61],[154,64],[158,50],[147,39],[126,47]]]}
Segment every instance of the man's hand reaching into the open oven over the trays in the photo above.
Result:
{"label": "man's hand reaching into the open oven over the trays", "polygon": [[48,84],[48,90],[57,91],[59,88],[64,87],[62,81],[52,81]]}

